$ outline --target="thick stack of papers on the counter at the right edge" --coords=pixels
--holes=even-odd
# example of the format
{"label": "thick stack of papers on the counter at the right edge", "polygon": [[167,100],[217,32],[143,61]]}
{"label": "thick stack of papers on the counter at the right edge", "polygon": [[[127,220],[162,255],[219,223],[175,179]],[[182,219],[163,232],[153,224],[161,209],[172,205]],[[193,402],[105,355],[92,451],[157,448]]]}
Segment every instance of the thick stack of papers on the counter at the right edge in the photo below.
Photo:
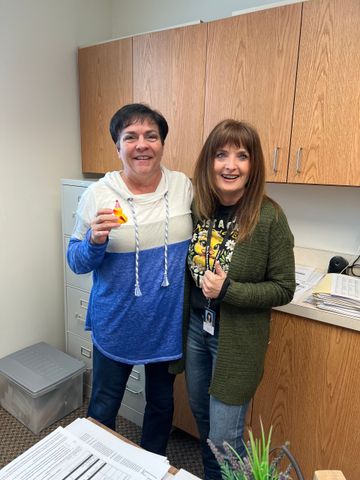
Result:
{"label": "thick stack of papers on the counter at the right edge", "polygon": [[360,278],[328,273],[313,289],[318,308],[360,318]]}

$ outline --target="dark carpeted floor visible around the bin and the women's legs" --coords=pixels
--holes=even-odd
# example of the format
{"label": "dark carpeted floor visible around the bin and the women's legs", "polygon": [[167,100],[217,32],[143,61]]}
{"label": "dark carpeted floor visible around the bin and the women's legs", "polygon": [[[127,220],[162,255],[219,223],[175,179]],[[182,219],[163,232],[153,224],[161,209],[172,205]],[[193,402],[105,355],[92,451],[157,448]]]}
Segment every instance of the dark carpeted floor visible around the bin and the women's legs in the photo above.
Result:
{"label": "dark carpeted floor visible around the bin and the women's legs", "polygon": [[[86,417],[86,411],[87,405],[84,404],[63,419],[42,430],[38,435],[35,435],[0,407],[0,468],[7,465],[58,426],[64,427],[78,417]],[[117,431],[135,443],[140,441],[140,427],[122,417],[118,417]],[[202,478],[199,442],[191,435],[179,429],[174,429],[170,436],[167,457],[170,464],[174,467],[184,468],[188,472]]]}

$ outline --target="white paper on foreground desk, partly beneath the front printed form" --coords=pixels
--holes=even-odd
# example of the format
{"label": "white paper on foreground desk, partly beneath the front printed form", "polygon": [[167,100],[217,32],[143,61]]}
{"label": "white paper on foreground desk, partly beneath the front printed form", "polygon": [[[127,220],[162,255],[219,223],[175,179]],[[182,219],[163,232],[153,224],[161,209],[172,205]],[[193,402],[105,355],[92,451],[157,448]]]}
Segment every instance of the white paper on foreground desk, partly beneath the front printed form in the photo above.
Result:
{"label": "white paper on foreground desk, partly beneath the front printed form", "polygon": [[166,457],[124,442],[86,418],[76,419],[66,430],[115,465],[126,466],[137,473],[142,480],[160,480],[170,467]]}

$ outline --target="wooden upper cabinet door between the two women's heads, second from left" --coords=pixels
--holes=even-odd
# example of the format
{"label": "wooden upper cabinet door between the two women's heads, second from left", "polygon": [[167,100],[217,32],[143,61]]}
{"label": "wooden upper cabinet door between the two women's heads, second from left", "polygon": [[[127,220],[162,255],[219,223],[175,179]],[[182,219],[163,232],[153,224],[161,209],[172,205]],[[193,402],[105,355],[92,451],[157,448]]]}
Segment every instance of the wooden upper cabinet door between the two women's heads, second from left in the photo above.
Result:
{"label": "wooden upper cabinet door between the two women's heads, second from left", "polygon": [[192,175],[203,137],[206,25],[133,38],[134,101],[169,124],[163,164]]}

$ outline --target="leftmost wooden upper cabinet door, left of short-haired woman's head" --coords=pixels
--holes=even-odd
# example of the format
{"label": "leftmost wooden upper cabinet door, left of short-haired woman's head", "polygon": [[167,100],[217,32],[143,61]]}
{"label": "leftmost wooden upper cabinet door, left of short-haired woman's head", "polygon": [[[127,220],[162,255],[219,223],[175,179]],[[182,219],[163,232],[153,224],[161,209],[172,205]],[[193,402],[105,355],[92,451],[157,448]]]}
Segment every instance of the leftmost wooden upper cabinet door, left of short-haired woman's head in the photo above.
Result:
{"label": "leftmost wooden upper cabinet door, left of short-haired woman's head", "polygon": [[119,170],[109,123],[121,106],[132,102],[132,39],[80,48],[78,61],[82,170]]}

